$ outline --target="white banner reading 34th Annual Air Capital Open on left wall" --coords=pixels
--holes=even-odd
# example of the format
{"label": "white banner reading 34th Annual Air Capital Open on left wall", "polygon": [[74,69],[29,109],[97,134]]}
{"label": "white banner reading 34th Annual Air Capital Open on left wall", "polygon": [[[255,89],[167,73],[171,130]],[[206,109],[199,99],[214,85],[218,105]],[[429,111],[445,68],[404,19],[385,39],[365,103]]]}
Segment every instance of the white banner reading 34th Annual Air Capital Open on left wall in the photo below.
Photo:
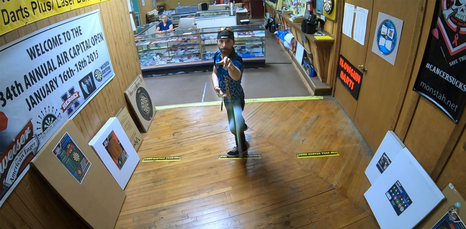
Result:
{"label": "white banner reading 34th Annual Air Capital Open on left wall", "polygon": [[0,47],[0,69],[1,206],[53,133],[115,76],[100,11]]}

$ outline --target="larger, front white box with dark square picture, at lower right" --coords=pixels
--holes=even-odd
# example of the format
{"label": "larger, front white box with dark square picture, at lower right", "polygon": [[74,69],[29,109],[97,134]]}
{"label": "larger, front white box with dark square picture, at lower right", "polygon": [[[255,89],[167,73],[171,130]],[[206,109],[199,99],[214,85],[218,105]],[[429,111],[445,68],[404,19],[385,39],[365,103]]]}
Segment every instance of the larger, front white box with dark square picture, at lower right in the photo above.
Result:
{"label": "larger, front white box with dark square picture, at lower right", "polygon": [[414,228],[445,198],[406,147],[364,197],[382,229]]}

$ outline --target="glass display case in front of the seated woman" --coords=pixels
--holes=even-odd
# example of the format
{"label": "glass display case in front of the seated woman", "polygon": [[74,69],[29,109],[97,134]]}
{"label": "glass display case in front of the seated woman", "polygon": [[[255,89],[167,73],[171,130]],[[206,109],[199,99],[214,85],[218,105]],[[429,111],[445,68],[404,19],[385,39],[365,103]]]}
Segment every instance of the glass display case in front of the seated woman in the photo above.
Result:
{"label": "glass display case in front of the seated woman", "polygon": [[136,37],[139,64],[142,70],[201,62],[198,30],[179,30]]}

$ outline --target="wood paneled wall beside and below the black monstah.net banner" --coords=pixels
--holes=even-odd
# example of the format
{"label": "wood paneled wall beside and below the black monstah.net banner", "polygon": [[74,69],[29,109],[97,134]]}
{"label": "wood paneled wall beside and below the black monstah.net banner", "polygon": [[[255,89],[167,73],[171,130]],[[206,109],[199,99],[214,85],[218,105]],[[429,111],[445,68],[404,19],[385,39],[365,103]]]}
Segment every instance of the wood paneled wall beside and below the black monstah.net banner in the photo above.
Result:
{"label": "wood paneled wall beside and below the black monstah.net banner", "polygon": [[466,142],[466,112],[455,124],[431,102],[413,91],[430,33],[434,7],[435,1],[427,1],[419,49],[412,74],[404,82],[406,90],[400,92],[398,103],[401,110],[393,117],[396,121],[393,131],[441,190],[451,182],[466,196],[466,154],[463,147]]}

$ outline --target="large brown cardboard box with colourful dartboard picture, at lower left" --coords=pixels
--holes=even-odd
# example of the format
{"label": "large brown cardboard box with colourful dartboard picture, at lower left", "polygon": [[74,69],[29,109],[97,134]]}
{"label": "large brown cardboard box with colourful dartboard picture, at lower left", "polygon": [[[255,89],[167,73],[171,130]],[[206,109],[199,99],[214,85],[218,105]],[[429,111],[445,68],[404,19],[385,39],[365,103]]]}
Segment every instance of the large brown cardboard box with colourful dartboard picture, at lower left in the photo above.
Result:
{"label": "large brown cardboard box with colourful dartboard picture, at lower left", "polygon": [[114,228],[126,194],[68,119],[31,161],[92,228]]}

